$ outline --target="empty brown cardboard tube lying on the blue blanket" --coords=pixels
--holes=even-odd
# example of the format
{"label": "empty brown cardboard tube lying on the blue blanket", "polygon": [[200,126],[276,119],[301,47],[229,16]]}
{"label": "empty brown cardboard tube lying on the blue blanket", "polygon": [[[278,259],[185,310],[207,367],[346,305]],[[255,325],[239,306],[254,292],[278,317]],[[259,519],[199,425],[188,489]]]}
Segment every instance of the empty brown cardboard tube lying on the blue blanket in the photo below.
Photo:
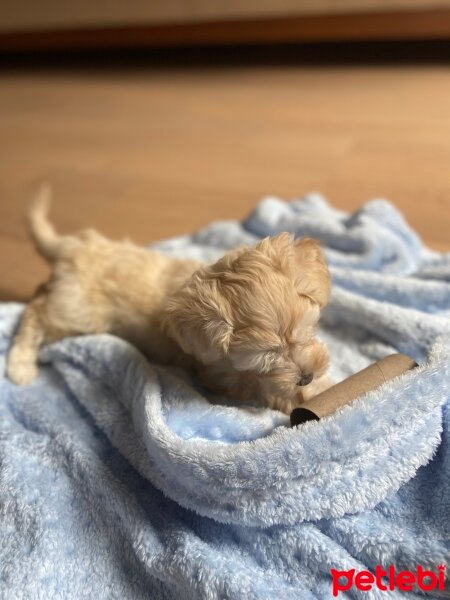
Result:
{"label": "empty brown cardboard tube lying on the blue blanket", "polygon": [[291,425],[319,420],[331,415],[336,409],[348,404],[358,396],[376,389],[382,383],[417,367],[417,363],[405,354],[391,354],[348,379],[314,396],[291,413]]}

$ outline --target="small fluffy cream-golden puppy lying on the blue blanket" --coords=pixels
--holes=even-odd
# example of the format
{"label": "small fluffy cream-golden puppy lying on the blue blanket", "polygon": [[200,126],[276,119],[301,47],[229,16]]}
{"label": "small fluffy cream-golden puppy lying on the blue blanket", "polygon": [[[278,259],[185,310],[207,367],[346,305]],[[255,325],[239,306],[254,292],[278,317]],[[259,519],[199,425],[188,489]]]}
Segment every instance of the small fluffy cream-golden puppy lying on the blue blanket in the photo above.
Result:
{"label": "small fluffy cream-golden puppy lying on the blue blanket", "polygon": [[91,229],[61,236],[48,206],[43,188],[29,226],[52,272],[14,338],[7,364],[14,383],[36,377],[42,345],[109,332],[151,360],[193,368],[234,401],[289,414],[329,386],[328,352],[315,329],[330,276],[314,240],[281,233],[203,265]]}

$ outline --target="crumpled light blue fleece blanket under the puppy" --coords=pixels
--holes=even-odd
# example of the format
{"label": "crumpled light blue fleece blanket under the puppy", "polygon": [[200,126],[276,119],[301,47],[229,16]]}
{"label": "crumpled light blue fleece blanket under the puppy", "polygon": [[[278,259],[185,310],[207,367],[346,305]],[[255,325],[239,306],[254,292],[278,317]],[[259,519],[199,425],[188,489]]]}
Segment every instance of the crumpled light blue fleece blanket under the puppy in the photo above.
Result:
{"label": "crumpled light blue fleece blanket under the puppy", "polygon": [[[284,230],[326,247],[331,376],[420,366],[291,429],[113,336],[44,349],[33,385],[0,381],[2,599],[326,599],[330,569],[450,563],[450,254],[386,201],[316,195],[156,247],[212,261]],[[21,310],[0,306],[2,372]]]}

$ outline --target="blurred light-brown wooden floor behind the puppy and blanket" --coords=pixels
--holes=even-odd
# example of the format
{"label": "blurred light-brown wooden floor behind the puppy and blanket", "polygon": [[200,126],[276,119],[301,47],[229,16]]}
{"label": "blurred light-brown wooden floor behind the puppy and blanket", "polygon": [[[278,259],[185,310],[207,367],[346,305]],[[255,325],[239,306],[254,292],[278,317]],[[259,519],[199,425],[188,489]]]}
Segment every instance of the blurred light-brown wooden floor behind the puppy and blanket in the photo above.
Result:
{"label": "blurred light-brown wooden floor behind the puppy and blanket", "polygon": [[450,250],[450,67],[1,74],[1,299],[45,276],[23,227],[43,180],[62,231],[144,243],[317,190],[348,210],[387,197]]}

